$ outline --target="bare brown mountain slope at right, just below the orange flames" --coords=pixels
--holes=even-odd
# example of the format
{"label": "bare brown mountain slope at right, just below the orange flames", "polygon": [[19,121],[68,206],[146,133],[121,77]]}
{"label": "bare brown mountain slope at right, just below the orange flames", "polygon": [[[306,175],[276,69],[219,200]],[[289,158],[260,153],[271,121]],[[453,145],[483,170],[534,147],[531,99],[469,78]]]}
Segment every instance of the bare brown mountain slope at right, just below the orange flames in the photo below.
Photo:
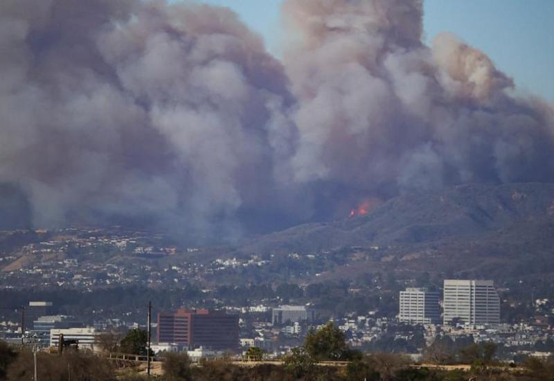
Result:
{"label": "bare brown mountain slope at right, just below the orange flames", "polygon": [[[461,185],[400,195],[371,209],[368,215],[270,233],[251,240],[241,251],[317,252],[341,246],[464,239],[519,243],[526,241],[526,236],[550,242],[551,237],[545,234],[553,224],[554,184]],[[535,229],[528,229],[529,225]]]}

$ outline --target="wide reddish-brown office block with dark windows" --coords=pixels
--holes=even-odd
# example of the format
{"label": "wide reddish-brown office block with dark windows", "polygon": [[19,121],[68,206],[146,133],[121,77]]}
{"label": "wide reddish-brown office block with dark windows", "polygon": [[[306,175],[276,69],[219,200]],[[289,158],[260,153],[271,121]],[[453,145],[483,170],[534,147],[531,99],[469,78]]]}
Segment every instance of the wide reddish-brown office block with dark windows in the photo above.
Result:
{"label": "wide reddish-brown office block with dark windows", "polygon": [[215,310],[159,312],[159,343],[175,343],[188,348],[238,348],[238,315]]}

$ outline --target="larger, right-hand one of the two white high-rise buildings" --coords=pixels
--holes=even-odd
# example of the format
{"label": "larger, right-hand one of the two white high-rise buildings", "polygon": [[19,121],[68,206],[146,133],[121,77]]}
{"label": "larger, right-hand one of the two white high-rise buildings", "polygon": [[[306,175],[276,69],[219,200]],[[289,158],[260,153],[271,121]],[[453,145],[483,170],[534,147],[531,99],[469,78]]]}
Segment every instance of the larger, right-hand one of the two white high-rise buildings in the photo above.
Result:
{"label": "larger, right-hand one of the two white high-rise buildings", "polygon": [[493,281],[445,279],[443,322],[459,319],[470,326],[499,324],[500,298]]}

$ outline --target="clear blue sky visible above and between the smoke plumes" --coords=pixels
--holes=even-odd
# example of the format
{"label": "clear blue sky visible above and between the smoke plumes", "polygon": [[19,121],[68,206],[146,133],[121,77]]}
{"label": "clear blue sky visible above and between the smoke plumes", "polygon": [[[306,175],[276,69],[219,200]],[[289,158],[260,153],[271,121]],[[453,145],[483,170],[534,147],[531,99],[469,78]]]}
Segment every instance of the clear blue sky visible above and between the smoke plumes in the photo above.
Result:
{"label": "clear blue sky visible above and between the smoke plumes", "polygon": [[[233,8],[264,35],[278,55],[281,0],[202,0]],[[554,103],[553,0],[426,0],[427,42],[453,32],[483,50],[512,76],[519,91],[540,94]]]}

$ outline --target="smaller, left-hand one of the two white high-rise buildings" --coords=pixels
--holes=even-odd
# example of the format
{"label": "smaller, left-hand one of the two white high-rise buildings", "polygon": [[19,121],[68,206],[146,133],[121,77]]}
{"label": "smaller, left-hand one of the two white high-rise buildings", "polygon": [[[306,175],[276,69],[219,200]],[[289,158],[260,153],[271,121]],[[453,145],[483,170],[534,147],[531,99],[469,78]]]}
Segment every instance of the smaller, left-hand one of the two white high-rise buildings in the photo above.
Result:
{"label": "smaller, left-hand one of the two white high-rise buildings", "polygon": [[398,319],[409,324],[438,324],[440,306],[438,292],[427,288],[406,288],[400,291],[400,314]]}

